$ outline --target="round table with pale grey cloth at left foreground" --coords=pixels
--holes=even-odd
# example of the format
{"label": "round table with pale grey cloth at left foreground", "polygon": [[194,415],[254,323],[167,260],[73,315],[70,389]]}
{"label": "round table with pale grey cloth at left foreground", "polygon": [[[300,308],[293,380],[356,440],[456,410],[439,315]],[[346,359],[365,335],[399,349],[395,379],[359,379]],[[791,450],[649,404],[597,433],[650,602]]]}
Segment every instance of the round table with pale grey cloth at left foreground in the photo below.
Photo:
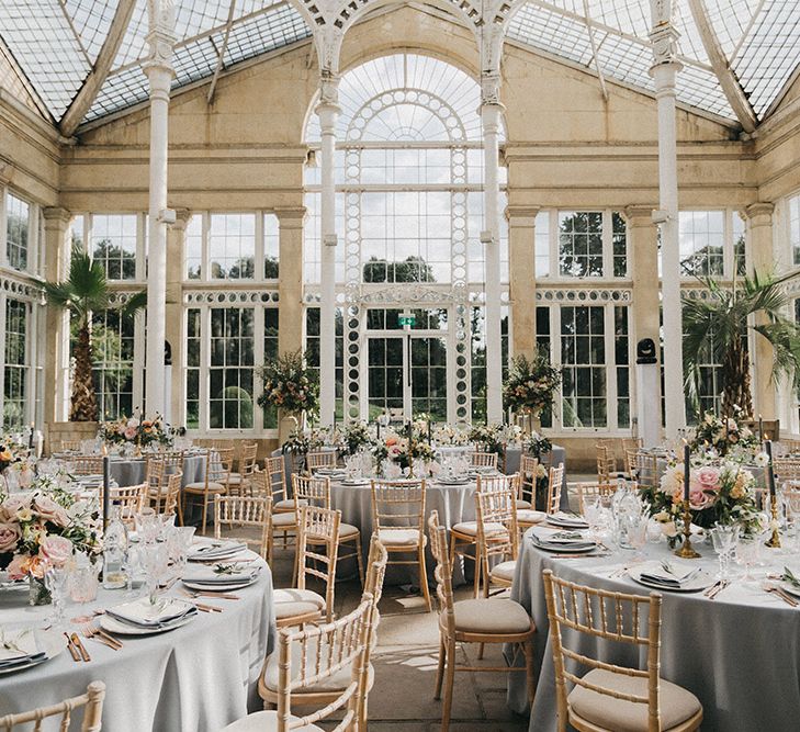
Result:
{"label": "round table with pale grey cloth at left foreground", "polygon": [[[76,663],[65,650],[34,668],[0,676],[0,716],[78,696],[92,680],[105,684],[108,732],[218,732],[248,711],[261,709],[258,676],[275,642],[272,576],[262,564],[258,582],[236,590],[240,599],[203,598],[223,612],[199,612],[182,628],[156,635],[119,635],[124,643],[120,651],[79,632],[91,655],[89,663]],[[122,604],[123,595],[124,590],[101,588],[93,604],[68,601],[66,617]],[[26,601],[26,589],[1,592],[0,626],[41,627],[52,607],[29,608]],[[67,622],[70,632],[78,630]]]}

